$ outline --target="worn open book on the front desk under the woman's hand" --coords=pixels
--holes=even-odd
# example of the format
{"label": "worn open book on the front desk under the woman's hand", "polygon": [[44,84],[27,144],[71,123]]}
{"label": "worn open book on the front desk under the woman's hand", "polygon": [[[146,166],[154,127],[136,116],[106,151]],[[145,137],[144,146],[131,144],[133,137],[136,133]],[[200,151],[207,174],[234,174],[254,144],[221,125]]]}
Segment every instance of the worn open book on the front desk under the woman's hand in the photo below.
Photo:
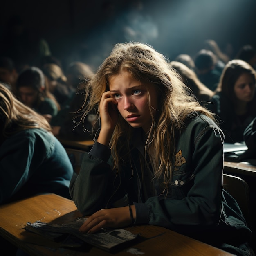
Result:
{"label": "worn open book on the front desk under the woman's hand", "polygon": [[[25,230],[45,236],[55,242],[62,241],[63,247],[79,247],[85,242],[107,252],[124,249],[138,236],[125,229],[102,229],[95,234],[81,234],[78,230],[85,220],[86,218],[77,218],[65,224],[28,222]],[[78,239],[74,239],[74,236]]]}

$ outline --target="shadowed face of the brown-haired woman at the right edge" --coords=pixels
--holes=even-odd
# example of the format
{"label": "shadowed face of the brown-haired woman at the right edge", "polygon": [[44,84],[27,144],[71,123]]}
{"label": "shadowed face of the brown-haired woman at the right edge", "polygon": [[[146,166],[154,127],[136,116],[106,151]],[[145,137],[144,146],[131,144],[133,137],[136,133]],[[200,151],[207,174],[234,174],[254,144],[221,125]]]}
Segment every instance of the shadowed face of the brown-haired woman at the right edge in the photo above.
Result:
{"label": "shadowed face of the brown-haired woman at the right edge", "polygon": [[240,101],[250,102],[254,97],[255,83],[251,74],[241,74],[234,85],[234,92]]}

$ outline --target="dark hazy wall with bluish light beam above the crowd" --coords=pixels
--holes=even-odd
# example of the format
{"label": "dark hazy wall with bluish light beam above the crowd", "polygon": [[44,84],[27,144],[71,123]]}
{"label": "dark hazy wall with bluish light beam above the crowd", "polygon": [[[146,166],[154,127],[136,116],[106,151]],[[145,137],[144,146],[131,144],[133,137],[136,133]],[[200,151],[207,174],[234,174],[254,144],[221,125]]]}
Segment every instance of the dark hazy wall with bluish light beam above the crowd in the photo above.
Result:
{"label": "dark hazy wall with bluish light beam above the crowd", "polygon": [[[254,0],[141,2],[142,18],[137,23],[129,20],[129,25],[135,23],[144,29],[144,37],[135,40],[150,43],[170,59],[180,53],[195,54],[205,39],[216,40],[223,50],[231,43],[234,54],[244,44],[256,46]],[[9,18],[19,15],[27,29],[47,40],[53,55],[66,62],[78,59],[90,62],[92,56],[99,54],[94,63],[97,66],[113,44],[128,40],[123,27],[131,3],[131,0],[4,1],[0,32],[3,34]]]}

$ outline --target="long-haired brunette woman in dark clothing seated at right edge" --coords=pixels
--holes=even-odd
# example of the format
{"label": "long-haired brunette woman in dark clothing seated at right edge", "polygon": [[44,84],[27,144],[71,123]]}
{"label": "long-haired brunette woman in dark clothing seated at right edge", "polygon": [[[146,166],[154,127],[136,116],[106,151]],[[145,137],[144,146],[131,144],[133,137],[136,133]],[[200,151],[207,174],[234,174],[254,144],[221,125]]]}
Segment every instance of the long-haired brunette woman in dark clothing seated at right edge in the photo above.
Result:
{"label": "long-haired brunette woman in dark clothing seated at right edge", "polygon": [[225,142],[243,141],[243,132],[256,117],[256,72],[247,62],[229,61],[223,70],[212,104],[207,107],[218,115]]}

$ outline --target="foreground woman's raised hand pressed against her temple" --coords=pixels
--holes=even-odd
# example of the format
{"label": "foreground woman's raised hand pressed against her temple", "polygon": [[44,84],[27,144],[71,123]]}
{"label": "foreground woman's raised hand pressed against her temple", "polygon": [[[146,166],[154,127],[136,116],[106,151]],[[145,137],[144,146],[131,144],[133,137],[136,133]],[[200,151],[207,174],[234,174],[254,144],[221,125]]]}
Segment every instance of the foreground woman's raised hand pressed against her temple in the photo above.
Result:
{"label": "foreground woman's raised hand pressed against her temple", "polygon": [[101,129],[114,131],[119,115],[116,105],[117,101],[111,97],[110,91],[102,94],[101,101],[99,103]]}

